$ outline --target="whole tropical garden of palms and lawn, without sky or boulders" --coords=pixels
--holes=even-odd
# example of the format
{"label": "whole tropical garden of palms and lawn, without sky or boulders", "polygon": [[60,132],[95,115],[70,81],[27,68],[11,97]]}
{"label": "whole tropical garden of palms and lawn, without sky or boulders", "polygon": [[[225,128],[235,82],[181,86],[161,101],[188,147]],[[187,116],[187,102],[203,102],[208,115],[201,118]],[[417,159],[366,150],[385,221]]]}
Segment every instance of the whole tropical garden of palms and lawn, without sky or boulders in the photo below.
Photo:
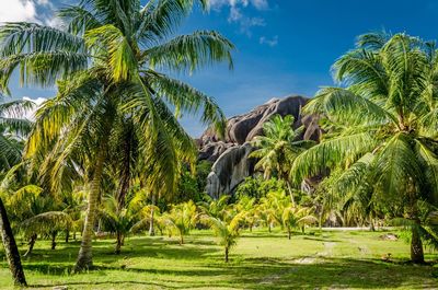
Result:
{"label": "whole tropical garden of palms and lawn, without sky or boulders", "polygon": [[[60,27],[0,26],[0,288],[437,288],[435,44],[358,36],[338,85],[303,107],[321,139],[275,115],[251,143],[254,176],[214,199],[180,120],[223,137],[227,119],[171,73],[232,69],[218,32],[177,34],[208,7],[84,0]],[[56,95],[10,101],[16,74]]]}

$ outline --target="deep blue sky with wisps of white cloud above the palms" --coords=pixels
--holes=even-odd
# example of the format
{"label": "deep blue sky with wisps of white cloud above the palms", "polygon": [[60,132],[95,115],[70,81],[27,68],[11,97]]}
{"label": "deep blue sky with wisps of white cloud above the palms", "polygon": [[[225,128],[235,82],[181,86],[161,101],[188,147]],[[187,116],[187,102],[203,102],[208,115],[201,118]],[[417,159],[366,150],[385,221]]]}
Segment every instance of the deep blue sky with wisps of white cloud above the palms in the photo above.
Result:
{"label": "deep blue sky with wisps of white cloud above the palms", "polygon": [[[214,96],[227,116],[245,113],[272,97],[312,96],[332,85],[330,67],[370,31],[406,32],[438,38],[436,0],[210,0],[209,13],[195,11],[181,33],[216,30],[237,46],[234,70],[207,68],[176,76]],[[69,2],[74,2],[70,0]],[[0,21],[54,24],[51,11],[66,1],[0,0]],[[13,81],[14,97],[49,97],[54,91],[24,88]],[[185,117],[185,128],[199,136],[203,126]]]}

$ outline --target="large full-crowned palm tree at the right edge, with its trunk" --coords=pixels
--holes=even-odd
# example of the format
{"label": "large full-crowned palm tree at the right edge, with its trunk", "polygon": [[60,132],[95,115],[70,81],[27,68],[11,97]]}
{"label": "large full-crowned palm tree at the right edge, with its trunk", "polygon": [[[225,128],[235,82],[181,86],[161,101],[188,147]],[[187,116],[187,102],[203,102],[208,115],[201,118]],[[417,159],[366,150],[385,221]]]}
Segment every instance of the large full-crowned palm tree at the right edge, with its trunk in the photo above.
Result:
{"label": "large full-crowned palm tree at the right edge, with its trunk", "polygon": [[[334,65],[346,88],[322,89],[304,108],[328,132],[300,154],[297,182],[341,167],[337,187],[360,189],[371,174],[373,199],[412,221],[411,258],[424,263],[418,202],[438,194],[438,55],[405,34],[367,34]],[[427,237],[424,235],[424,237]]]}

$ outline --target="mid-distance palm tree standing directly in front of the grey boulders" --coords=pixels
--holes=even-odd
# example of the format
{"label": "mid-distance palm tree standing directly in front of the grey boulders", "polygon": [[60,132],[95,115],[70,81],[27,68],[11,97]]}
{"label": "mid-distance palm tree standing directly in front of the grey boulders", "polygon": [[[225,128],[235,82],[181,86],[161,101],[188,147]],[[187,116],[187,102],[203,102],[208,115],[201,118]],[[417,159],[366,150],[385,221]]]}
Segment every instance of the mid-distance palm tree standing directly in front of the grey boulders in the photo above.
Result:
{"label": "mid-distance palm tree standing directly in front of the grey boulders", "polygon": [[255,169],[263,170],[265,178],[276,174],[286,183],[292,204],[295,198],[289,182],[290,167],[296,156],[312,143],[309,140],[297,140],[303,127],[293,130],[293,123],[291,115],[275,115],[263,125],[264,136],[257,136],[253,141],[253,146],[258,149],[250,155],[260,159]]}

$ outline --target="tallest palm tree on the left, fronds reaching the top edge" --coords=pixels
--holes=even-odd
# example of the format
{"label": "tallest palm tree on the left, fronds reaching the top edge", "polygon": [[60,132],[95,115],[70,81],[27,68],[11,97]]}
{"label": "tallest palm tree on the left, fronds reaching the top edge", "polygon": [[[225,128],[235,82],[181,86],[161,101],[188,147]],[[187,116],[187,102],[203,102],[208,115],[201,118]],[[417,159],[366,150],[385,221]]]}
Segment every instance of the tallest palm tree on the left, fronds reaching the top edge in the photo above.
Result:
{"label": "tallest palm tree on the left, fronds reaching the top edge", "polygon": [[[199,2],[207,9],[206,0]],[[60,11],[66,30],[35,23],[0,28],[3,90],[16,68],[25,84],[58,82],[57,96],[38,111],[27,158],[39,164],[42,175],[51,176],[54,185],[66,163],[80,167],[90,183],[76,270],[92,266],[95,212],[105,167],[114,164],[111,158],[140,160],[128,155],[135,151],[132,143],[117,139],[116,132],[131,128],[129,138],[135,136],[142,156],[140,164],[120,164],[120,202],[132,169],[147,173],[151,192],[165,195],[176,185],[177,163],[196,160],[195,144],[177,121],[182,113],[201,111],[201,120],[223,132],[224,116],[212,98],[159,72],[192,72],[218,61],[232,66],[233,45],[216,32],[171,38],[193,5],[192,0],[148,1],[145,7],[137,0],[85,0]],[[129,149],[123,152],[120,147],[112,149],[127,143]]]}

